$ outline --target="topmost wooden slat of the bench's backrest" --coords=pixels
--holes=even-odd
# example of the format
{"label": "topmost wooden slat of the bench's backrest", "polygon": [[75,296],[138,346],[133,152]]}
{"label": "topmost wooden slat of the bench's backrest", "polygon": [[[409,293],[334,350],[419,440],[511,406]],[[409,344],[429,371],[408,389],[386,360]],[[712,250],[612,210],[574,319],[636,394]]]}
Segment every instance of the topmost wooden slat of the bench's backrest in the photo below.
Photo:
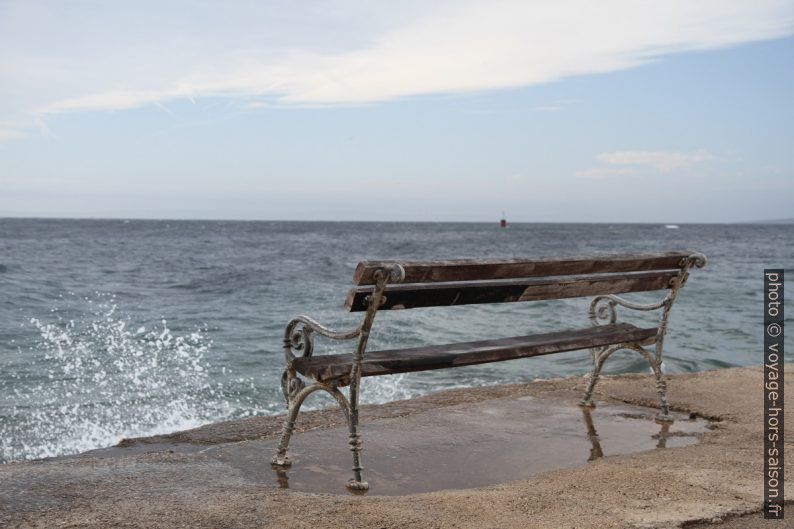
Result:
{"label": "topmost wooden slat of the bench's backrest", "polygon": [[403,282],[425,283],[665,270],[679,268],[681,259],[691,254],[691,251],[680,251],[517,259],[362,261],[353,273],[353,282],[356,285],[375,284],[375,271],[388,264],[399,264],[403,267],[405,270],[405,280]]}

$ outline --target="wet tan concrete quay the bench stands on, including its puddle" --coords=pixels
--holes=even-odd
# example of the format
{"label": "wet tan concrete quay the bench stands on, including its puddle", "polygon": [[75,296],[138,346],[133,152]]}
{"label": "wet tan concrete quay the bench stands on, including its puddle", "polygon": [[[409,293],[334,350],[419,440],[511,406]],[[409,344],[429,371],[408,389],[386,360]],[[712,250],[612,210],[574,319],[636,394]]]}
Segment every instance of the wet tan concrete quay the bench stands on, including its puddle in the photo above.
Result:
{"label": "wet tan concrete quay the bench stands on, including its puddle", "polygon": [[[785,372],[794,394],[794,365]],[[0,527],[788,527],[790,520],[758,514],[763,407],[752,396],[763,373],[752,366],[671,375],[671,404],[682,413],[667,432],[652,420],[657,396],[647,375],[604,377],[592,429],[576,406],[581,377],[367,405],[372,490],[364,497],[344,489],[350,453],[338,408],[301,414],[297,462],[281,482],[268,461],[283,416],[9,463],[0,465]],[[785,424],[794,425],[791,410]],[[452,477],[437,481],[442,472]],[[279,488],[284,477],[293,488]],[[462,488],[472,483],[485,486]],[[453,490],[400,492],[431,487]]]}

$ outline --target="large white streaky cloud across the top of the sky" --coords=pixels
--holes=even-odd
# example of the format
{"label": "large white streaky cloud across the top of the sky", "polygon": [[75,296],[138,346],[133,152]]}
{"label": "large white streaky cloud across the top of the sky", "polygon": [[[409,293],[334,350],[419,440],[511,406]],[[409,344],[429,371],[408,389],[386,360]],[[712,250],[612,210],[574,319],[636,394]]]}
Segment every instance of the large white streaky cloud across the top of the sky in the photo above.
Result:
{"label": "large white streaky cloud across the top of the sky", "polygon": [[183,98],[325,106],[524,87],[794,28],[782,0],[169,5],[5,4],[0,139],[65,112]]}

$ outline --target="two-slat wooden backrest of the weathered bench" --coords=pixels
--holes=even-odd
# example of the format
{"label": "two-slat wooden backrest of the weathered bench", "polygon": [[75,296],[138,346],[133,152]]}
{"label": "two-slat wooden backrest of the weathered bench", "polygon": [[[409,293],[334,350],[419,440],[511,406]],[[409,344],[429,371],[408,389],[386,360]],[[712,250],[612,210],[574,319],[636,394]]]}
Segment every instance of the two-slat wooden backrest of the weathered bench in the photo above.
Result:
{"label": "two-slat wooden backrest of the weathered bench", "polygon": [[562,299],[671,288],[691,251],[447,261],[363,261],[353,274],[345,308],[367,310],[377,270],[399,265],[379,310]]}

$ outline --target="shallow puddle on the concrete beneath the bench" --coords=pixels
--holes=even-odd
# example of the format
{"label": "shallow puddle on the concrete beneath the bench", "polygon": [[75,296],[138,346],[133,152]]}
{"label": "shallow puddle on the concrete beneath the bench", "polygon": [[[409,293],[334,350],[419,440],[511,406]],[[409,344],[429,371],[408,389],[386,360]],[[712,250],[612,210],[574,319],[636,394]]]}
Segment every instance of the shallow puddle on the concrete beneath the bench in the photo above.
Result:
{"label": "shallow puddle on the concrete beneath the bench", "polygon": [[[524,479],[595,459],[697,442],[709,422],[674,413],[657,423],[655,410],[601,404],[580,408],[532,397],[439,408],[364,422],[364,477],[369,494],[400,495],[462,489]],[[205,450],[249,479],[304,492],[343,494],[352,455],[346,428],[293,436],[291,468],[269,461],[277,440]]]}

